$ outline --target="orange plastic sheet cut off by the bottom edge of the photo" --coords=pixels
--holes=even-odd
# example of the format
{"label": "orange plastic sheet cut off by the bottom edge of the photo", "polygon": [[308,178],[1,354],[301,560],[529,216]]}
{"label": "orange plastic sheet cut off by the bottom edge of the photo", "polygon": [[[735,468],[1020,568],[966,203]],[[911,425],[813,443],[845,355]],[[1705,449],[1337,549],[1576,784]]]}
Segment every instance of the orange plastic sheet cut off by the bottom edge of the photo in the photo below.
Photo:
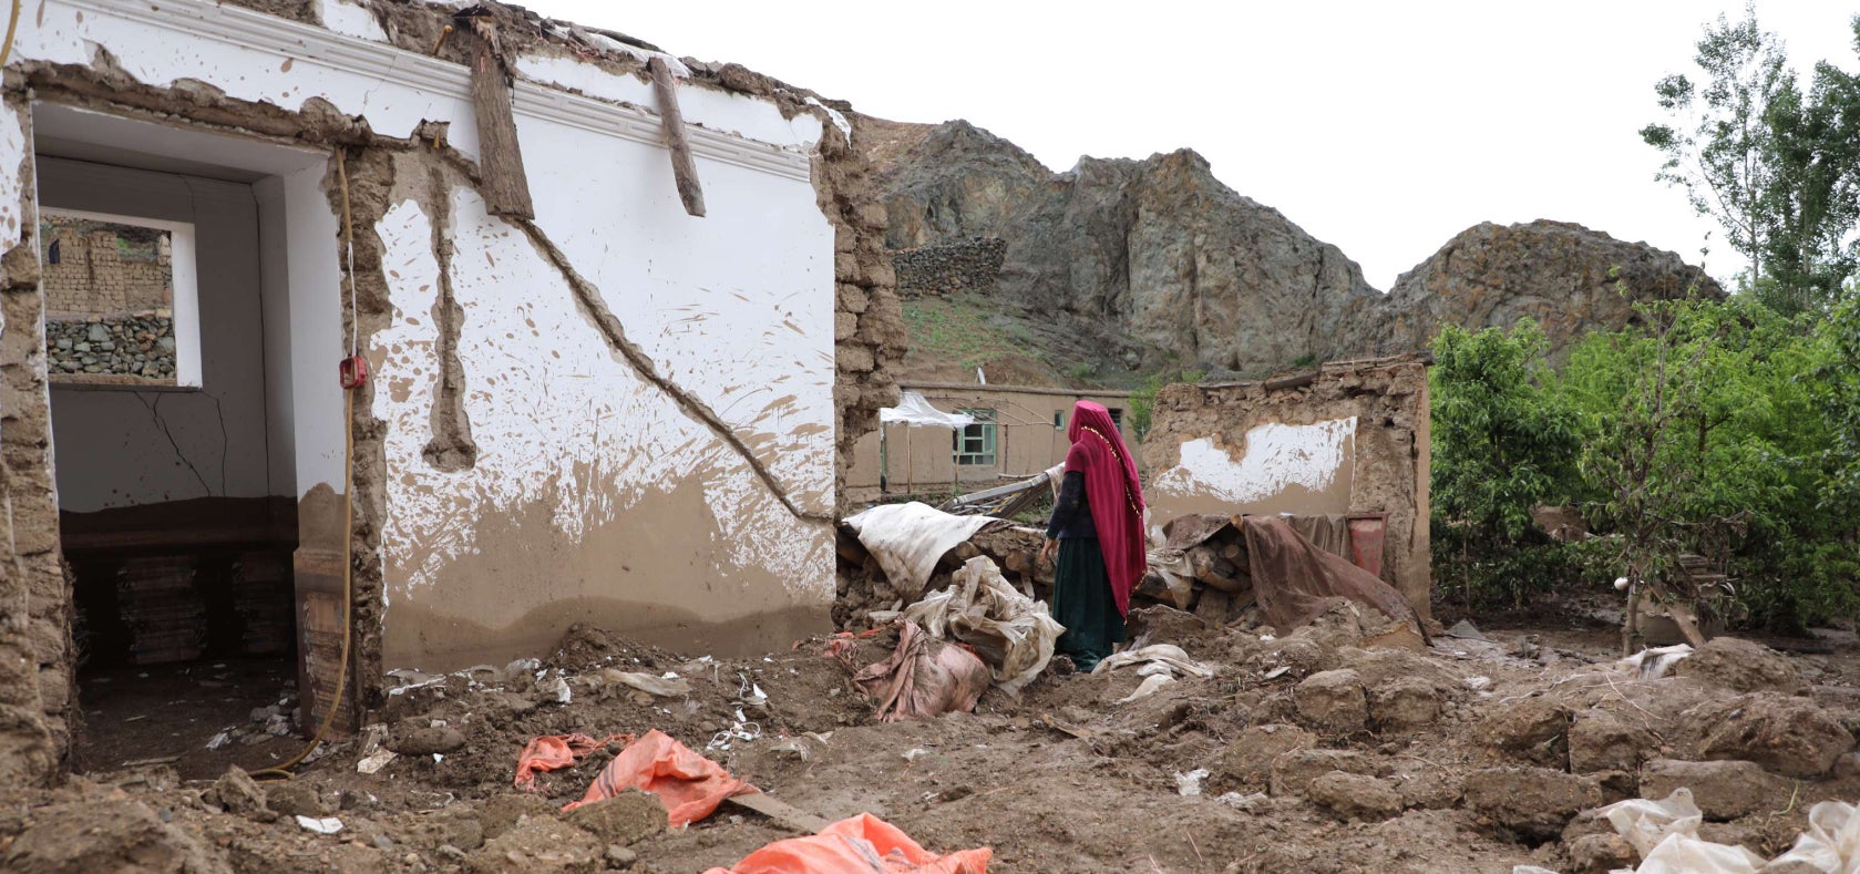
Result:
{"label": "orange plastic sheet cut off by the bottom edge of the photo", "polygon": [[813,837],[776,841],[731,868],[705,874],[988,874],[993,850],[936,855],[885,820],[861,813]]}

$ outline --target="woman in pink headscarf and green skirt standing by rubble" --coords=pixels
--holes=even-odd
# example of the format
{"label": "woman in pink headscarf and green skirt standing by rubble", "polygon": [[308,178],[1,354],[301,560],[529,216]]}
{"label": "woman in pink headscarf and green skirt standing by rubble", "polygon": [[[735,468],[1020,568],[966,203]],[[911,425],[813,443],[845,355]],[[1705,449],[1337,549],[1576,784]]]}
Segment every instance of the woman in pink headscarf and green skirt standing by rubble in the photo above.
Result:
{"label": "woman in pink headscarf and green skirt standing by rubble", "polygon": [[1066,478],[1040,556],[1058,554],[1053,619],[1066,634],[1056,649],[1090,671],[1123,643],[1131,589],[1144,576],[1144,493],[1109,409],[1081,400],[1068,437]]}

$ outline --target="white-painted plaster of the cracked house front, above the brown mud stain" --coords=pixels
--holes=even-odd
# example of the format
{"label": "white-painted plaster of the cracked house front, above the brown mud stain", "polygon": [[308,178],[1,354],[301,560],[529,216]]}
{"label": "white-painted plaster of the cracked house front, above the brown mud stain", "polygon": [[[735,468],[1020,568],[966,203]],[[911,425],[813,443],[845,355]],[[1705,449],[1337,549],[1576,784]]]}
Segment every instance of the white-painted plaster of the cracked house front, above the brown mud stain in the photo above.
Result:
{"label": "white-painted plaster of the cracked house front, above the brown mud stain", "polygon": [[[210,0],[45,0],[22,20],[15,58],[89,63],[106,48],[151,86],[201,80],[234,99],[286,108],[320,97],[385,136],[450,121],[450,145],[476,158],[467,71],[383,46],[342,6],[322,2],[339,33]],[[645,82],[560,52],[523,58],[515,69],[538,227],[599,288],[664,377],[712,407],[804,511],[831,513],[833,232],[809,180],[820,121],[783,119],[774,104],[740,95],[681,89],[709,206],[709,218],[694,219],[679,206]],[[340,229],[322,201],[324,177],[316,166],[281,179],[299,493],[342,482],[333,370],[346,338],[327,318],[344,294],[331,251]],[[262,205],[277,192],[259,193]],[[545,502],[556,539],[538,549],[575,550],[584,537],[664,524],[629,511],[692,487],[709,519],[690,524],[712,534],[694,547],[701,554],[690,556],[699,569],[690,586],[725,580],[709,617],[766,604],[768,593],[729,591],[729,580],[740,586],[750,576],[770,580],[787,603],[824,608],[833,597],[830,526],[789,513],[744,459],[640,379],[556,270],[519,229],[485,216],[469,190],[450,197],[458,249],[450,279],[465,309],[458,351],[480,454],[459,472],[422,459],[437,377],[432,206],[394,205],[376,229],[387,244],[392,298],[392,324],[366,350],[378,368],[372,413],[387,424],[389,634],[398,606],[445,612],[448,591],[485,584],[448,576],[474,554],[485,521]],[[257,245],[268,249],[264,240]],[[273,273],[268,268],[266,277]],[[625,599],[616,580],[608,573],[562,580],[560,597]]]}

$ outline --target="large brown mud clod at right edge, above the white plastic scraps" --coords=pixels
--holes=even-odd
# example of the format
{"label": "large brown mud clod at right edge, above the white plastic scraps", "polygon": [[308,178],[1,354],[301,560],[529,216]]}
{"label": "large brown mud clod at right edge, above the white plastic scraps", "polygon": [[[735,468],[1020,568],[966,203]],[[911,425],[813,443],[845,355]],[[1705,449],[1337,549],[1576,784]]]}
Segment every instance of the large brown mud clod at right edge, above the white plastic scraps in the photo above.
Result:
{"label": "large brown mud clod at right edge, above the white plastic scraps", "polygon": [[1787,777],[1819,777],[1854,736],[1806,697],[1758,692],[1687,710],[1707,725],[1704,759],[1748,759]]}

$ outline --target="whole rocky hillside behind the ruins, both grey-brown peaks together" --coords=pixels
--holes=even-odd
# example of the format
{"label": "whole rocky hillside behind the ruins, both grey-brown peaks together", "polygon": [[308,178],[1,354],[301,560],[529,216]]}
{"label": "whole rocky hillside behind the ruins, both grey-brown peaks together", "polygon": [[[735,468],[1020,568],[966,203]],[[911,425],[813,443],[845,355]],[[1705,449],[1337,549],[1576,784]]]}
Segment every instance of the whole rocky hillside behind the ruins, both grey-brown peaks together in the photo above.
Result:
{"label": "whole rocky hillside behind the ruins, both grey-brown peaks together", "polygon": [[[919,301],[906,305],[917,314],[906,370],[917,377],[995,361],[1025,377],[1045,368],[1109,385],[1181,368],[1257,376],[1419,350],[1442,322],[1508,325],[1525,314],[1561,351],[1629,320],[1616,277],[1635,296],[1694,283],[1719,294],[1678,255],[1559,221],[1473,227],[1382,294],[1335,245],[1233,192],[1187,149],[1081,158],[1053,173],[965,121],[857,123],[887,245],[919,286],[906,288]],[[1001,247],[993,240],[1004,253],[978,249]],[[978,281],[975,266],[993,262],[995,281]],[[960,271],[941,288],[939,264]],[[1001,351],[969,353],[986,342],[967,333],[945,348],[947,325],[962,320],[986,325]]]}

